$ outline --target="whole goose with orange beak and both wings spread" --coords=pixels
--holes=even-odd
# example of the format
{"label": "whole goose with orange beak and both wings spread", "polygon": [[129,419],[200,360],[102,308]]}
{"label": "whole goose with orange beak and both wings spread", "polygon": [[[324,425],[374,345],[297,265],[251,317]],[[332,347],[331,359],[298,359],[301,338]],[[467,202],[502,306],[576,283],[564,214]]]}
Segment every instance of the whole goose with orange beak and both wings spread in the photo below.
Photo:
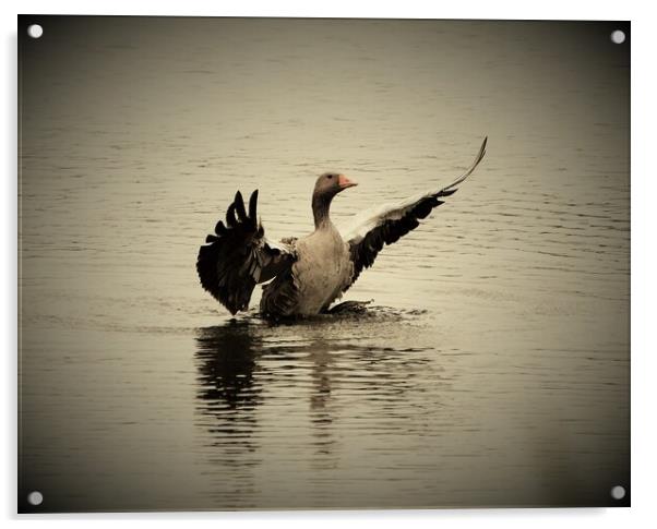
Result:
{"label": "whole goose with orange beak and both wings spread", "polygon": [[341,233],[330,216],[333,199],[357,185],[338,172],[316,179],[312,193],[314,230],[278,242],[265,237],[258,218],[258,190],[248,207],[240,191],[199,250],[201,286],[235,315],[246,311],[255,285],[263,284],[260,314],[264,318],[310,316],[329,312],[385,244],[419,226],[431,211],[456,192],[486,154],[486,143],[471,166],[451,184],[394,204],[366,209]]}

